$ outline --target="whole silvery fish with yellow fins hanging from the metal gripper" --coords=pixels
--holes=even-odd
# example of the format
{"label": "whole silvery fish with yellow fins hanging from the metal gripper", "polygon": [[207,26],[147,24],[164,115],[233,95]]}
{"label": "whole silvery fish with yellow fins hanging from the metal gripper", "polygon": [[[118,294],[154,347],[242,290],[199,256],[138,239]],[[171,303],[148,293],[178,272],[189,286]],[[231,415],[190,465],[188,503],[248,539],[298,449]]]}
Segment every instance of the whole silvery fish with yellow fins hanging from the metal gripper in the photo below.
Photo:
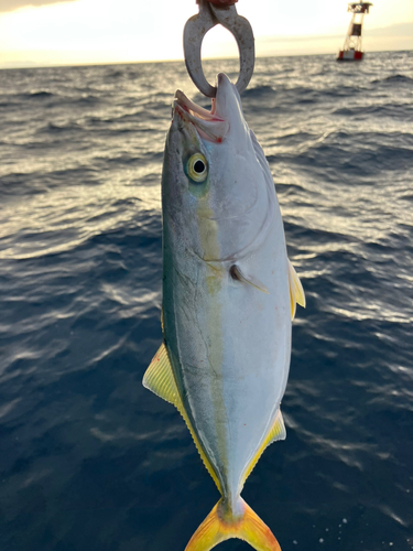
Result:
{"label": "whole silvery fish with yellow fins hanging from the metal gripper", "polygon": [[269,164],[224,73],[210,111],[175,94],[162,222],[163,343],[143,386],[180,411],[221,495],[185,551],[229,538],[279,551],[241,490],[263,451],[285,439],[280,404],[305,295]]}

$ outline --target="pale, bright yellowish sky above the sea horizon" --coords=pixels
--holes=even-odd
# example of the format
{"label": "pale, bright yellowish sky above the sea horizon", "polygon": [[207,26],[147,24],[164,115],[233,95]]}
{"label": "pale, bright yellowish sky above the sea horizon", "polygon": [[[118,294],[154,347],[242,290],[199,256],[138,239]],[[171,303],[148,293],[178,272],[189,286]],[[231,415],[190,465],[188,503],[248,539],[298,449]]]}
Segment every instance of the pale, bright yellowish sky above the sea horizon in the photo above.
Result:
{"label": "pale, bright yellowish sky above the sea horizon", "polygon": [[[350,21],[346,0],[239,0],[257,56],[338,52]],[[413,0],[372,0],[363,50],[413,50]],[[183,60],[195,0],[0,0],[0,68]],[[238,56],[215,28],[203,57]]]}

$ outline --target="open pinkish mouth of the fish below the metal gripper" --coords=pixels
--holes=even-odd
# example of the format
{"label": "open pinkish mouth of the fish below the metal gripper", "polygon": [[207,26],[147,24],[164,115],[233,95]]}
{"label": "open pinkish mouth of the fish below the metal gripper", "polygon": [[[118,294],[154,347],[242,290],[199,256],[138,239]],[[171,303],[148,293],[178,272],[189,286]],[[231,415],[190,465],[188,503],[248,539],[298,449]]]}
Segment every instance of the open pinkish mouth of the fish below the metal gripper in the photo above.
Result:
{"label": "open pinkish mouth of the fish below the metal gripper", "polygon": [[173,102],[173,116],[178,115],[184,122],[192,123],[199,138],[215,143],[224,141],[229,132],[229,121],[215,114],[216,100],[213,99],[210,111],[198,106],[181,90],[176,90]]}

